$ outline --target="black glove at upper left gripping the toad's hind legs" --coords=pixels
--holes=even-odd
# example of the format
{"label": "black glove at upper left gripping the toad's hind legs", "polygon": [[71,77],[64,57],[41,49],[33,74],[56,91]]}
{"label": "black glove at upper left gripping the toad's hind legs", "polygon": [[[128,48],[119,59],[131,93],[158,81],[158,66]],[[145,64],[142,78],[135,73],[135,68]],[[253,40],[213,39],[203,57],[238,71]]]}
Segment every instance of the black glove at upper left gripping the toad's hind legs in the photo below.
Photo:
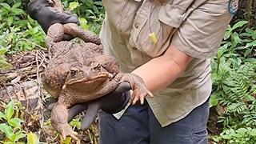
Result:
{"label": "black glove at upper left gripping the toad's hind legs", "polygon": [[78,23],[78,17],[70,12],[60,13],[47,0],[34,0],[26,7],[30,17],[37,20],[47,34],[48,28],[54,23]]}

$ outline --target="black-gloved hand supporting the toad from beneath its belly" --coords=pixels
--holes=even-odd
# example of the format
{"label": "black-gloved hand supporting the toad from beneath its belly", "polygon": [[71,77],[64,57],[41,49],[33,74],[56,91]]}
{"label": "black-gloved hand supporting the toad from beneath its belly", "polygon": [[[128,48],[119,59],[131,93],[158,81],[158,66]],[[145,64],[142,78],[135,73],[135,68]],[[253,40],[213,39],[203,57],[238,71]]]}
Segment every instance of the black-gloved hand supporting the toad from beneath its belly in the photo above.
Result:
{"label": "black-gloved hand supporting the toad from beneath its belly", "polygon": [[[94,122],[94,118],[98,114],[98,110],[103,110],[108,114],[115,114],[121,111],[130,100],[130,89],[131,87],[128,82],[122,82],[114,91],[102,98],[71,107],[68,111],[68,122],[70,122],[74,116],[86,110],[86,115],[81,123],[81,129],[88,129],[90,124]],[[51,104],[48,109],[51,110],[53,106],[54,104]]]}

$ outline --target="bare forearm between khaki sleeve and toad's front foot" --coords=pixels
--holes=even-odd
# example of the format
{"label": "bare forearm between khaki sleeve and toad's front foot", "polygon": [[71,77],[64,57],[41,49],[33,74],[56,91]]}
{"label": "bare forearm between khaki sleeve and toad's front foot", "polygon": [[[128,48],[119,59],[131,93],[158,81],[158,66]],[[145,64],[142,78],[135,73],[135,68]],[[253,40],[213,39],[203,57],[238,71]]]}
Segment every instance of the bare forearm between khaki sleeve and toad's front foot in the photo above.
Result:
{"label": "bare forearm between khaki sleeve and toad's front foot", "polygon": [[133,73],[140,76],[150,91],[160,90],[170,85],[184,70],[192,58],[170,46],[166,53],[151,59]]}

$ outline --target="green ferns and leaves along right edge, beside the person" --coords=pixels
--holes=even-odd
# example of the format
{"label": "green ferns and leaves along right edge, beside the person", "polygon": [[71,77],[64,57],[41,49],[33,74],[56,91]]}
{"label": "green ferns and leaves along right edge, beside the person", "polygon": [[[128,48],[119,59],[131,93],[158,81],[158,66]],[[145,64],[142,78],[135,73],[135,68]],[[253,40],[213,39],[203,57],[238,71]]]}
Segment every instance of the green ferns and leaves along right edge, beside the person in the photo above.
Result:
{"label": "green ferns and leaves along right edge, beside the person", "polygon": [[[254,142],[250,141],[251,133],[241,132],[246,127],[256,128],[256,30],[246,25],[246,21],[240,21],[229,26],[212,60],[214,92],[210,106],[224,109],[218,120],[224,131],[218,138],[228,143],[246,141],[243,138]],[[243,138],[237,138],[239,134],[244,134]]]}

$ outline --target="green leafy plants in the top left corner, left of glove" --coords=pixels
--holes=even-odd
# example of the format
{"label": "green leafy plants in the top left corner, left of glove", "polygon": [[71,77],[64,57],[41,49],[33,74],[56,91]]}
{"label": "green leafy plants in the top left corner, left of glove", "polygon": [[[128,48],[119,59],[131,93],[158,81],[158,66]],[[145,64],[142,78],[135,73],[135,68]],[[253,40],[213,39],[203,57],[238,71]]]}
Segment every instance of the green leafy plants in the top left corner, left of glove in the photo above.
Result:
{"label": "green leafy plants in the top left corner, left of glove", "polygon": [[21,2],[0,1],[0,68],[10,67],[5,55],[44,46],[45,34],[21,8]]}

